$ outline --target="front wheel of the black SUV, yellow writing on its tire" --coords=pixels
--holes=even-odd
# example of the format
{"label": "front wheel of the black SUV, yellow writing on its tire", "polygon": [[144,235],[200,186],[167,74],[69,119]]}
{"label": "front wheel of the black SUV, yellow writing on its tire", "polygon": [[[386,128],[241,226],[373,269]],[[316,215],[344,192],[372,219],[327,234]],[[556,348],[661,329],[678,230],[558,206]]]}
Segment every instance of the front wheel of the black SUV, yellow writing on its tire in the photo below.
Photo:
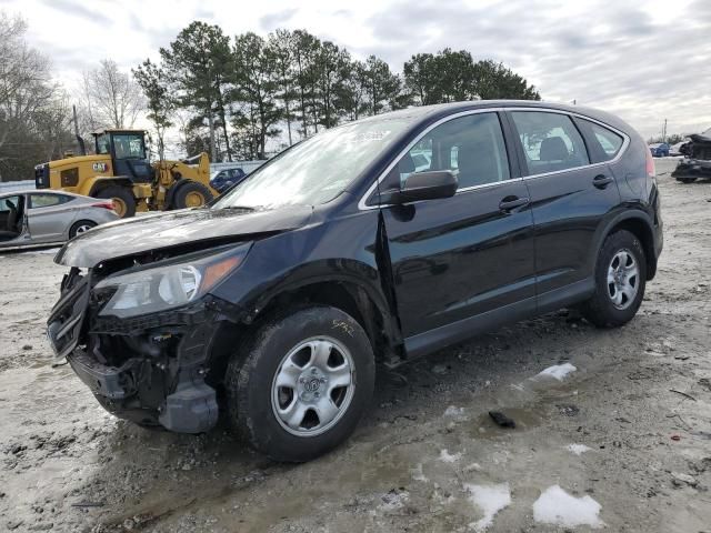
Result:
{"label": "front wheel of the black SUV, yellow writing on its tire", "polygon": [[373,395],[372,346],[343,311],[313,306],[262,325],[228,366],[232,428],[276,461],[303,462],[342,443]]}

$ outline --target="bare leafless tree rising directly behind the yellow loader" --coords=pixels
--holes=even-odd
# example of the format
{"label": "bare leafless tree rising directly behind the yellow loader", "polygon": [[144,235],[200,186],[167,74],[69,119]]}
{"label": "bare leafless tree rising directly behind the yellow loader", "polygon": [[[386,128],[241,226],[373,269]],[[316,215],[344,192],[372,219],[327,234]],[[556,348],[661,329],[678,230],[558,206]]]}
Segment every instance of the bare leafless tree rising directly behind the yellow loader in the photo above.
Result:
{"label": "bare leafless tree rising directly behind the yellow loader", "polygon": [[100,128],[132,128],[146,107],[138,83],[110,59],[84,72],[83,99],[86,118]]}

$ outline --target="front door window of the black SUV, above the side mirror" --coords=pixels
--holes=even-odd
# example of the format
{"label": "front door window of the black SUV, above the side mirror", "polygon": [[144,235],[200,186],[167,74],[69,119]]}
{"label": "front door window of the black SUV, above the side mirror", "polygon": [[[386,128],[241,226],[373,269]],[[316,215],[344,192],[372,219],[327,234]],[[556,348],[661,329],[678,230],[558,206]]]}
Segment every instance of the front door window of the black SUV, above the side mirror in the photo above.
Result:
{"label": "front door window of the black SUV, above the side mirror", "polygon": [[[508,180],[511,174],[497,113],[468,114],[438,125],[402,157],[393,172],[402,187],[412,173],[428,170],[454,171],[460,189]],[[397,178],[389,178],[392,187]]]}

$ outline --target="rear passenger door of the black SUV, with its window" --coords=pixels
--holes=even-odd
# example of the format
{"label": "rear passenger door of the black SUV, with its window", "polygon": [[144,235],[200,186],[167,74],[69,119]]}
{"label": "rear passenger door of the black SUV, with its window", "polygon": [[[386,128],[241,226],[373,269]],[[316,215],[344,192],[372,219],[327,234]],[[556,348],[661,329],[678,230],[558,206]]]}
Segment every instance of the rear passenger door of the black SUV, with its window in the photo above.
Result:
{"label": "rear passenger door of the black SUV, with its window", "polygon": [[510,118],[533,207],[539,308],[557,306],[592,289],[595,232],[620,193],[569,114],[521,110]]}

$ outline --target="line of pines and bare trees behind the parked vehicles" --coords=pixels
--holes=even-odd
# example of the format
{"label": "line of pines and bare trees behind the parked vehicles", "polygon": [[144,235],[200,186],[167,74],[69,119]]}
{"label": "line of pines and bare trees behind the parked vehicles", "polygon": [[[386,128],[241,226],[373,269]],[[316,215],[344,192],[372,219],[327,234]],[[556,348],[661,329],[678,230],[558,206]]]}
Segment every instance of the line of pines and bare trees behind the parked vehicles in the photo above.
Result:
{"label": "line of pines and bare trees behind the parked vehicles", "polygon": [[131,128],[142,117],[159,158],[177,148],[231,161],[264,159],[322,129],[408,105],[540,100],[524,78],[465,50],[414,54],[397,72],[306,30],[230,37],[200,21],[130,72],[111,60],[86,70],[70,95],[26,31],[21,18],[0,12],[3,181],[31,179],[34,164],[76,153],[74,133],[90,147],[92,131]]}

